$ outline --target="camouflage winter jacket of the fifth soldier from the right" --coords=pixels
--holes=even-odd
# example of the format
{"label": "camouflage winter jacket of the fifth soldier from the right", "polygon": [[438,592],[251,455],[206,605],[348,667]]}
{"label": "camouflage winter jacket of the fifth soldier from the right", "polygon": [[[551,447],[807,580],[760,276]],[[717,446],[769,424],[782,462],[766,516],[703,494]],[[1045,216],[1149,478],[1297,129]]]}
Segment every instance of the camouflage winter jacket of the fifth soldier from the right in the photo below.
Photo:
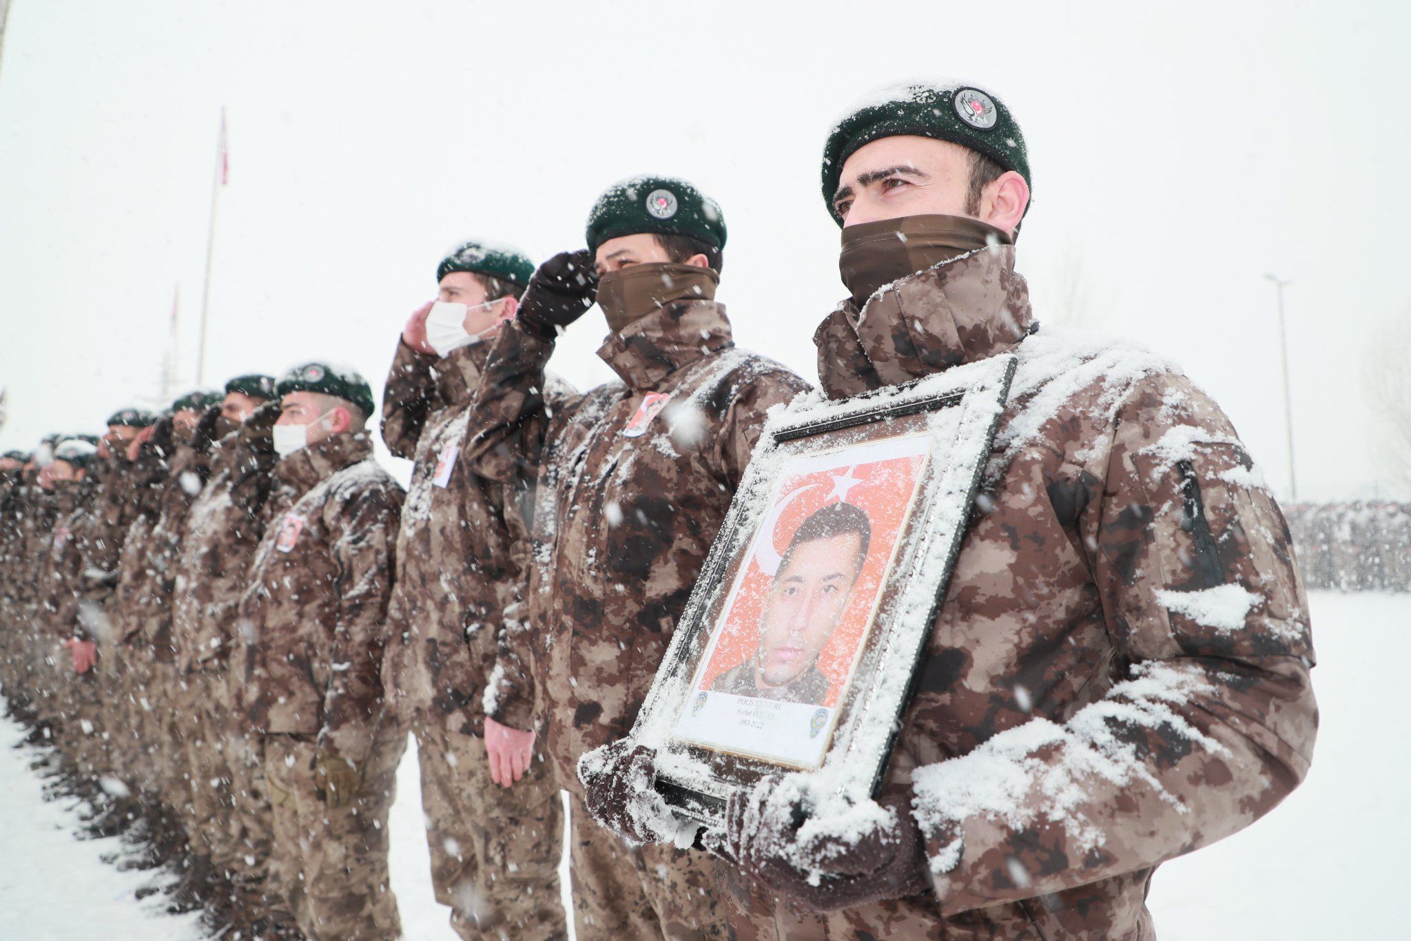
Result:
{"label": "camouflage winter jacket of the fifth soldier from the right", "polygon": [[190,504],[172,560],[172,650],[182,672],[224,670],[277,456],[240,433],[214,446],[210,480]]}

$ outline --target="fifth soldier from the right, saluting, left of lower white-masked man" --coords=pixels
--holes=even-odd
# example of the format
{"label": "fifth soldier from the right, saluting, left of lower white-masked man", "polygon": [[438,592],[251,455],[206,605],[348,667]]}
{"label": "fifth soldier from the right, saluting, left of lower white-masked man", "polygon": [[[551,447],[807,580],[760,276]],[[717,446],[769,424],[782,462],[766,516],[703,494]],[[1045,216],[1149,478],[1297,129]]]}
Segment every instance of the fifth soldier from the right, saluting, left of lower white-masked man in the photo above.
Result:
{"label": "fifth soldier from the right, saluting, left of lower white-masked man", "polygon": [[[255,745],[231,721],[230,652],[246,573],[264,533],[262,506],[275,453],[268,375],[226,384],[213,420],[209,481],[192,499],[185,536],[172,560],[171,645],[181,677],[178,714],[190,780],[192,842],[223,872],[244,914],[262,907],[272,832],[264,769]],[[264,405],[260,415],[257,408]],[[250,422],[246,425],[246,422]]]}

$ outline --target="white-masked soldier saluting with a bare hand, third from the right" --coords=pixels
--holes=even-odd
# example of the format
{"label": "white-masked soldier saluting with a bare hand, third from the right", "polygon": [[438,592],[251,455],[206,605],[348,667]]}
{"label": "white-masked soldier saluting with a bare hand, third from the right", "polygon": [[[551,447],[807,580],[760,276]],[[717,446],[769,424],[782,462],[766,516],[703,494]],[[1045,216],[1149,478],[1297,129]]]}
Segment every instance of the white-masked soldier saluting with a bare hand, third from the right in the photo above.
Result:
{"label": "white-masked soldier saluting with a bare hand, third from the right", "polygon": [[[563,938],[563,804],[536,760],[491,782],[481,700],[523,560],[522,494],[457,460],[480,371],[533,275],[467,243],[436,269],[440,303],[408,322],[382,392],[382,440],[415,461],[396,538],[387,700],[416,735],[436,900],[463,938]],[[450,315],[450,316],[446,316]]]}

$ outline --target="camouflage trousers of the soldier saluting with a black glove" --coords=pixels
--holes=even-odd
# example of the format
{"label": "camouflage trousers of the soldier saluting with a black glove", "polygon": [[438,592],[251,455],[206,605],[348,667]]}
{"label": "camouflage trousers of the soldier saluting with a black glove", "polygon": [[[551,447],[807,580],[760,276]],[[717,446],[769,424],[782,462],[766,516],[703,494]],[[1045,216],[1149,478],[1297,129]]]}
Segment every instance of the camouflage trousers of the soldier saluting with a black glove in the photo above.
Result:
{"label": "camouflage trousers of the soldier saluting with a black glove", "polygon": [[634,849],[598,827],[573,794],[570,870],[579,938],[728,938],[704,852],[648,845]]}

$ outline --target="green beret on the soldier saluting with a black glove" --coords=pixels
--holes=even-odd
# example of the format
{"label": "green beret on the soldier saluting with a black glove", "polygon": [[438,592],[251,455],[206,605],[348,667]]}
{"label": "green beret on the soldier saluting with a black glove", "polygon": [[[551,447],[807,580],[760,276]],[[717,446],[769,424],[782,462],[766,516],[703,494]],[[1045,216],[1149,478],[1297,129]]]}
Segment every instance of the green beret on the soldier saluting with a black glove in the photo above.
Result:
{"label": "green beret on the soldier saluting with a black glove", "polygon": [[588,213],[588,251],[608,238],[652,233],[690,236],[713,248],[725,247],[725,214],[720,205],[684,179],[632,176],[608,186]]}

